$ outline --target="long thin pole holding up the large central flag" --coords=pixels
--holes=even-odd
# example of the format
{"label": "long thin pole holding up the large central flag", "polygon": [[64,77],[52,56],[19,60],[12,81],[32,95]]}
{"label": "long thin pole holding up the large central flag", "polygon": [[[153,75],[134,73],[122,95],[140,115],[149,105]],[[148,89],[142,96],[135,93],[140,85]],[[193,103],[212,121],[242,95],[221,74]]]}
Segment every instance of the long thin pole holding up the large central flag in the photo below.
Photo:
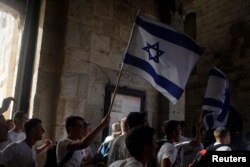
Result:
{"label": "long thin pole holding up the large central flag", "polygon": [[[140,9],[138,9],[138,11],[136,13],[136,18],[139,15],[139,12],[140,12]],[[130,32],[130,37],[129,37],[129,41],[128,41],[128,45],[127,45],[125,53],[127,53],[127,51],[128,51],[128,46],[130,44],[130,41],[131,41],[131,38],[132,38],[132,34],[134,32],[134,28],[135,28],[135,21],[133,23],[132,31]],[[123,55],[123,59],[122,60],[124,60],[124,57],[125,57],[125,54]],[[115,89],[114,89],[114,95],[112,97],[112,100],[111,100],[111,103],[110,103],[107,115],[110,115],[110,113],[112,111],[112,107],[113,107],[113,104],[114,104],[114,101],[115,101],[115,96],[116,96],[116,93],[117,93],[117,90],[118,90],[118,86],[119,86],[119,83],[120,83],[120,80],[121,80],[122,71],[123,71],[123,61],[122,61],[122,64],[121,64],[120,72],[119,72],[118,79],[117,79],[117,82],[116,82],[116,85],[115,85]]]}

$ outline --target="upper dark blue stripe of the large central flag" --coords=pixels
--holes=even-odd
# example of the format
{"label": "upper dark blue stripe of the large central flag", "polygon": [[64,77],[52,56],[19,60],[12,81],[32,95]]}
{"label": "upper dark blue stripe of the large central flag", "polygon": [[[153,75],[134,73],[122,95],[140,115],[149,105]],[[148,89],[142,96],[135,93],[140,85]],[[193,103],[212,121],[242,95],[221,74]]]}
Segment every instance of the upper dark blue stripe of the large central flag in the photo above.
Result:
{"label": "upper dark blue stripe of the large central flag", "polygon": [[184,47],[188,50],[193,51],[198,55],[202,55],[203,53],[203,49],[199,45],[197,45],[192,39],[181,33],[177,33],[172,31],[171,29],[160,27],[156,24],[144,21],[140,17],[137,17],[135,22],[137,25],[141,26],[150,34],[157,36],[158,38],[164,39],[166,41]]}

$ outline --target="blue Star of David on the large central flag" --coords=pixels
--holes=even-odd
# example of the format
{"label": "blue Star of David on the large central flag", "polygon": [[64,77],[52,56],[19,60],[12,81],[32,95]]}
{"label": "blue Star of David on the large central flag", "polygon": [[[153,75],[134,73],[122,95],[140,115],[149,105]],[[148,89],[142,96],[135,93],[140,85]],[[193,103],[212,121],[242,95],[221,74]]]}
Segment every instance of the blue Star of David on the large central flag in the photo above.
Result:
{"label": "blue Star of David on the large central flag", "polygon": [[[154,62],[159,63],[159,57],[161,55],[163,55],[163,51],[159,49],[159,42],[150,45],[149,43],[147,43],[147,46],[145,46],[144,48],[142,48],[143,50],[145,50],[146,52],[148,52],[148,56],[149,56],[149,60],[154,60]],[[152,55],[152,53],[154,53]]]}

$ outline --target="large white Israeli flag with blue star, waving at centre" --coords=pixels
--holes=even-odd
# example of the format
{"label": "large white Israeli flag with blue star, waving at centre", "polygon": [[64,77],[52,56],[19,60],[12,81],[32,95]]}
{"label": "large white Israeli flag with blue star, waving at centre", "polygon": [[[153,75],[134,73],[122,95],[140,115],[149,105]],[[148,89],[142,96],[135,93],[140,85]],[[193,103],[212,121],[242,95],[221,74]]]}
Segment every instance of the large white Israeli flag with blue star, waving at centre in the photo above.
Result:
{"label": "large white Israeli flag with blue star, waving at centre", "polygon": [[150,82],[176,104],[203,49],[188,36],[155,20],[137,16],[124,69]]}

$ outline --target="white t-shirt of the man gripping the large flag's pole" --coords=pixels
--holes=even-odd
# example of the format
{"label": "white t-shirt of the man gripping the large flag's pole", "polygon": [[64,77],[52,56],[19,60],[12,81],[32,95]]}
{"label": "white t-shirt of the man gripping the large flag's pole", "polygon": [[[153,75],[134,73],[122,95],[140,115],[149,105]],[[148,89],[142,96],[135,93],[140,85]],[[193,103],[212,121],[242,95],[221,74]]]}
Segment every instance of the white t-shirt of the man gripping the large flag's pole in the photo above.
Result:
{"label": "white t-shirt of the man gripping the large flag's pole", "polygon": [[[65,155],[69,152],[67,147],[73,140],[69,138],[62,139],[58,142],[56,147],[56,157],[57,157],[57,164],[59,164]],[[65,163],[64,167],[76,167],[80,166],[83,159],[83,150],[74,151],[72,157],[68,162]]]}

